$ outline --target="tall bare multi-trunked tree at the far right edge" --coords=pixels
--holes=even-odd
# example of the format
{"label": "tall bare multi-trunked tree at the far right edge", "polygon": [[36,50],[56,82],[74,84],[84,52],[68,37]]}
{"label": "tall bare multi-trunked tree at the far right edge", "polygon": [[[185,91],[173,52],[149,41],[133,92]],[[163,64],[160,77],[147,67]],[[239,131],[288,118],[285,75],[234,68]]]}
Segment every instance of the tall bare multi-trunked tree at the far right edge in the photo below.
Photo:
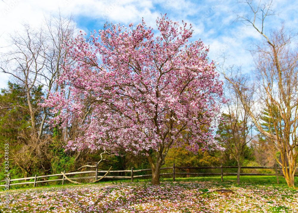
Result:
{"label": "tall bare multi-trunked tree at the far right edge", "polygon": [[[286,33],[285,27],[266,34],[265,19],[276,14],[272,10],[272,1],[254,6],[253,1],[244,1],[250,8],[246,15],[237,14],[236,21],[254,27],[263,36],[262,43],[255,45],[252,50],[255,62],[255,75],[259,95],[258,108],[249,110],[257,129],[266,135],[273,146],[281,153],[283,175],[288,186],[294,187],[294,174],[297,166],[297,126],[298,126],[298,54],[297,44],[293,43],[294,36]],[[243,96],[243,94],[239,93]],[[245,102],[244,102],[245,103]],[[272,131],[266,131],[261,125],[260,112],[267,109]],[[278,116],[276,116],[276,109]]]}

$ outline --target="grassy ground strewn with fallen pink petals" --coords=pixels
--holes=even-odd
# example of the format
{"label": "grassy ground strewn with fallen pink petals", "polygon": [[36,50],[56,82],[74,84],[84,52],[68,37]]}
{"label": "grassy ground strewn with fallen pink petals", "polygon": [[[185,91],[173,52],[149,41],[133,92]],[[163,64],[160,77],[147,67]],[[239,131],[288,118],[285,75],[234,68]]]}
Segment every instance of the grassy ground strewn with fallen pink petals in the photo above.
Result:
{"label": "grassy ground strewn with fallen pink petals", "polygon": [[[217,189],[235,194],[219,195]],[[7,191],[6,191],[7,192]],[[298,212],[298,191],[280,185],[228,182],[92,184],[9,190],[1,212]]]}

